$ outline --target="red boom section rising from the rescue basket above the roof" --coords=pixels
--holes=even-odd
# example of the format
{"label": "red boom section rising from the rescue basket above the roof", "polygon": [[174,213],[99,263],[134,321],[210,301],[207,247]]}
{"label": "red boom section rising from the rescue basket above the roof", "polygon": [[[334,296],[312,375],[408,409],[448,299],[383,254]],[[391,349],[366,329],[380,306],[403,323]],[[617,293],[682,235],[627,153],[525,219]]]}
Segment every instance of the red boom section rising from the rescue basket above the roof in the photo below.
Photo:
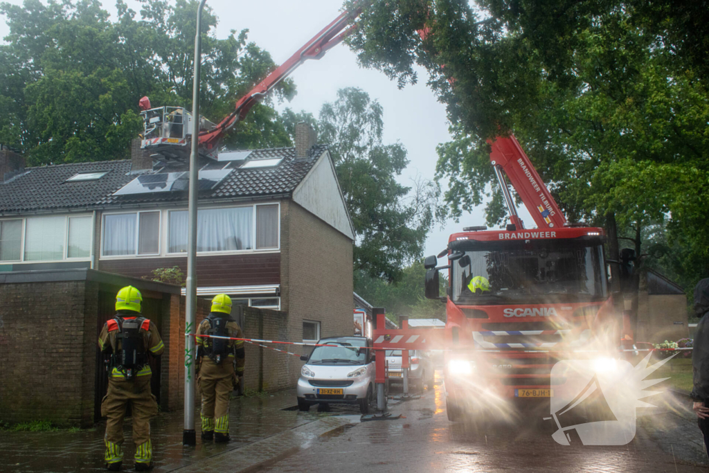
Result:
{"label": "red boom section rising from the rescue basket above the roof", "polygon": [[235,109],[229,116],[220,121],[211,130],[199,133],[200,148],[205,150],[213,150],[213,148],[216,148],[221,138],[223,138],[223,135],[225,135],[235,123],[242,121],[251,108],[259,101],[262,101],[264,97],[277,87],[282,80],[286,79],[291,72],[297,69],[303,62],[306,62],[306,60],[320,59],[325,55],[325,52],[328,52],[334,46],[340,44],[352,29],[355,28],[354,26],[350,26],[350,22],[354,20],[354,18],[357,18],[359,13],[362,13],[362,9],[345,11],[340,14],[340,16],[337,16],[332,23],[325,26],[320,33],[297,50],[286,62],[281,64],[274,72],[251,89],[248,94],[242,96],[242,98],[236,102]]}

